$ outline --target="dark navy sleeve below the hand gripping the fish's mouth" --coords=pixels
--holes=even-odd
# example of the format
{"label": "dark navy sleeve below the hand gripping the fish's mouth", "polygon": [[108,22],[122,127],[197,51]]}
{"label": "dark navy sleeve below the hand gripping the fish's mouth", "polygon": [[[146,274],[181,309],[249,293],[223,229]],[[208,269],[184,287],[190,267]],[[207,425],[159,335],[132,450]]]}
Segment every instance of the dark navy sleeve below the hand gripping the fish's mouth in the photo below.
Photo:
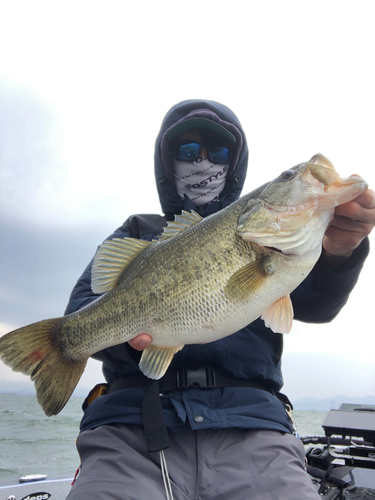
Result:
{"label": "dark navy sleeve below the hand gripping the fish's mouth", "polygon": [[306,323],[332,321],[348,301],[369,249],[369,240],[365,238],[336,271],[319,259],[309,276],[291,294],[295,319]]}

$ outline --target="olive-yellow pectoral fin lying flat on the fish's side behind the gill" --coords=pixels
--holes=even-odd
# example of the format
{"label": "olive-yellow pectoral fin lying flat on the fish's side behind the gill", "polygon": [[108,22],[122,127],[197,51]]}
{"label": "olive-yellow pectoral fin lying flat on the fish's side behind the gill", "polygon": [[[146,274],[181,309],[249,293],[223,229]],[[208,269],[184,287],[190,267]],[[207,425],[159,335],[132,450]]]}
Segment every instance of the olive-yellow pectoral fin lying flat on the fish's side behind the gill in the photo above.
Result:
{"label": "olive-yellow pectoral fin lying flat on the fish's side behind the gill", "polygon": [[274,273],[272,260],[267,255],[241,267],[228,280],[225,295],[232,300],[245,300]]}

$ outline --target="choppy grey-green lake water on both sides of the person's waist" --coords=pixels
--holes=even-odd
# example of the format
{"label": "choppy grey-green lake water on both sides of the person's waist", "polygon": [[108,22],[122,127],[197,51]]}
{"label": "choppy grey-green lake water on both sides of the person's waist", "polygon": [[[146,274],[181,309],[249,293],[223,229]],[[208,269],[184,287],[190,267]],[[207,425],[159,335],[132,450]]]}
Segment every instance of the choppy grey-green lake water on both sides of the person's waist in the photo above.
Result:
{"label": "choppy grey-green lake water on both sides of the person's waist", "polygon": [[[55,417],[46,417],[35,396],[0,394],[0,485],[18,483],[26,474],[49,479],[73,477],[79,465],[75,439],[82,400],[71,398]],[[322,434],[327,413],[295,411],[301,436]]]}

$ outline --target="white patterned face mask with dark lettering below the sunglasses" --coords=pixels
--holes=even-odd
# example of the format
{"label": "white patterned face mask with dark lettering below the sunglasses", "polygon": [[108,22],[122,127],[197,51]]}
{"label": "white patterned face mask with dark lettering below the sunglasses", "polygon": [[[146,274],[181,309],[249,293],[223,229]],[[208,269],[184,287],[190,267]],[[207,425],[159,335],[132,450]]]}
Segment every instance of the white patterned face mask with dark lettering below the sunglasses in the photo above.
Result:
{"label": "white patterned face mask with dark lettering below the sunglasses", "polygon": [[173,175],[179,196],[186,194],[195,206],[216,201],[224,189],[228,165],[212,163],[207,158],[195,161],[173,160]]}

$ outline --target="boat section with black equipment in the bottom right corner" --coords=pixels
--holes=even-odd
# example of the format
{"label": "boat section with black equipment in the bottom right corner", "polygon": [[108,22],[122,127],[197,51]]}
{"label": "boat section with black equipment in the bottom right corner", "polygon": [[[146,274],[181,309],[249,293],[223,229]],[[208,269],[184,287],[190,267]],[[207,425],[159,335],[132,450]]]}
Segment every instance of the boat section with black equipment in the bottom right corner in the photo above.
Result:
{"label": "boat section with black equipment in the bottom right corner", "polygon": [[324,436],[301,437],[306,469],[325,500],[375,499],[375,406],[331,410]]}

